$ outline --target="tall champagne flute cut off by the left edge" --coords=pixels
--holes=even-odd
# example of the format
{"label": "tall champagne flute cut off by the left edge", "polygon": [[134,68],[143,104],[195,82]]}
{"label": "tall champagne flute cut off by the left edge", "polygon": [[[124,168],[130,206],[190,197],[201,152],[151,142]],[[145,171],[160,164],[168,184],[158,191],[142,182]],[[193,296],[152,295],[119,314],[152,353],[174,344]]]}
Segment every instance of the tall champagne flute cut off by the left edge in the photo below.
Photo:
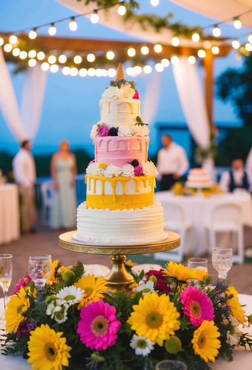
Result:
{"label": "tall champagne flute cut off by the left edge", "polygon": [[5,323],[4,315],[7,305],[8,289],[12,280],[12,255],[0,254],[0,285],[3,288],[4,297],[4,313],[0,319],[1,323]]}

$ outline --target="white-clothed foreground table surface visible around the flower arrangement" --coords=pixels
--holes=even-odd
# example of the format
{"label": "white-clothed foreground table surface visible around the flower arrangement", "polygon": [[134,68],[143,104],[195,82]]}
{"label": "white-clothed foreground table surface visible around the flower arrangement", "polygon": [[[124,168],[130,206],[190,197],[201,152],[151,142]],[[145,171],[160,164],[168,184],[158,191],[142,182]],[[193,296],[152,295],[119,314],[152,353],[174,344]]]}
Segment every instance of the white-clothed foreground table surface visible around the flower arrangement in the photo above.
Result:
{"label": "white-clothed foreground table surface visible around the flower arrangement", "polygon": [[[241,305],[245,305],[243,309],[247,315],[252,313],[252,296],[247,294],[239,294],[239,302]],[[3,298],[0,299],[0,315],[3,314]],[[244,333],[252,334],[252,326],[249,328],[242,328],[241,331]],[[2,329],[0,327],[0,329]],[[220,358],[214,364],[208,363],[213,370],[250,370],[252,368],[252,352],[244,347],[236,348],[233,352],[234,361],[228,362],[227,359]],[[31,364],[28,364],[22,355],[18,356],[3,356],[0,355],[0,369],[15,369],[15,370],[31,370]]]}

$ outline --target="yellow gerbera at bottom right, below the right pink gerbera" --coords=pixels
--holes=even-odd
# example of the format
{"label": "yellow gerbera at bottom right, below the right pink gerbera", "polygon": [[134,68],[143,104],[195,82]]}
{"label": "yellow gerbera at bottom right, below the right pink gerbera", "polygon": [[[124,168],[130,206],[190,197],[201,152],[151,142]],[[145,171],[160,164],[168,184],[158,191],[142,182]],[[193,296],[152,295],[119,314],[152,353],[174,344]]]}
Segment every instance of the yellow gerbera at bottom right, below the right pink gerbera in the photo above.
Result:
{"label": "yellow gerbera at bottom right, below the right pink gerbera", "polygon": [[218,327],[214,325],[213,321],[204,320],[193,333],[191,342],[194,353],[205,362],[214,362],[219,353],[218,349],[221,347],[221,342],[217,339],[220,335]]}

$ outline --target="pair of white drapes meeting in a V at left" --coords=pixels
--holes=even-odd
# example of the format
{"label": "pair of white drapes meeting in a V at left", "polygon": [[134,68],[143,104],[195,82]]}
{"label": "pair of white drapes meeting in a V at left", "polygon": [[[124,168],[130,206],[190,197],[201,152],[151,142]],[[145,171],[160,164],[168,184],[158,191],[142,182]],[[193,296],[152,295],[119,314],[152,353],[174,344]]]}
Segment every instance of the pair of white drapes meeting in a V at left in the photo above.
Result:
{"label": "pair of white drapes meeting in a V at left", "polygon": [[47,72],[40,64],[28,68],[21,98],[21,112],[6,62],[0,50],[0,109],[4,120],[18,142],[33,140],[38,131]]}

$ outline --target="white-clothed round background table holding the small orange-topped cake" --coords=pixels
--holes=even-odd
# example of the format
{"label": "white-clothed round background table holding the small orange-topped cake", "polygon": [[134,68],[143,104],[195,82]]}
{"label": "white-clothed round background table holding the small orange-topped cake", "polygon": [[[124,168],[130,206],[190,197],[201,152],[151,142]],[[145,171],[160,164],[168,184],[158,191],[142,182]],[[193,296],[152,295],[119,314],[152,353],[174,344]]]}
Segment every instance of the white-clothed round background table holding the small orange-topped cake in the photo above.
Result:
{"label": "white-clothed round background table holding the small orange-topped cake", "polygon": [[[205,225],[210,223],[212,209],[216,206],[233,203],[241,207],[242,223],[244,226],[252,227],[252,197],[247,192],[213,194],[210,197],[198,195],[174,195],[172,191],[160,191],[154,195],[156,201],[171,202],[181,206],[187,222],[193,224],[194,245],[190,249],[190,243],[185,243],[185,253],[192,252],[194,256],[200,256],[207,250],[205,239]],[[166,220],[164,220],[166,223]],[[168,220],[167,220],[168,226]],[[172,230],[173,231],[173,230]],[[174,230],[175,231],[175,230]]]}

